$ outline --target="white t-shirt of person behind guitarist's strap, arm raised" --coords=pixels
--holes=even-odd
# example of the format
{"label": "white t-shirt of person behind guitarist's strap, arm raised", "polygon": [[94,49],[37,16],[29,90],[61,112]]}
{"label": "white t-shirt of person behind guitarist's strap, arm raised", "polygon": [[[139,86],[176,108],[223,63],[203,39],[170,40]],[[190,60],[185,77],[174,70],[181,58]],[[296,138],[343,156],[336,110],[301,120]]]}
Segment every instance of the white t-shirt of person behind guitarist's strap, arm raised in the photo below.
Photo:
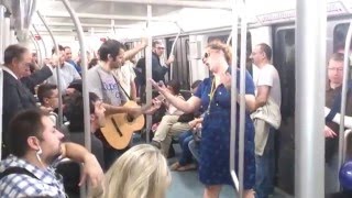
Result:
{"label": "white t-shirt of person behind guitarist's strap, arm raised", "polygon": [[121,87],[131,97],[131,81],[134,81],[135,74],[133,70],[133,63],[125,62],[124,65],[113,70],[113,74],[118,78]]}

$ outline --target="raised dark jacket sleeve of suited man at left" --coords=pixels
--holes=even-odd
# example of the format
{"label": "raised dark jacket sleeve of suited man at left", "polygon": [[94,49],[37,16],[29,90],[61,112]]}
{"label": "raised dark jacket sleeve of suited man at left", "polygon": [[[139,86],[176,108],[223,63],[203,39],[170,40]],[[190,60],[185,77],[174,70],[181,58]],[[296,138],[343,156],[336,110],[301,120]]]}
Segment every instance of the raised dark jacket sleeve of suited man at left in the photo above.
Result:
{"label": "raised dark jacket sleeve of suited man at left", "polygon": [[31,90],[34,95],[34,87],[42,84],[48,77],[53,75],[52,69],[48,66],[44,66],[42,69],[33,73],[31,76],[21,78],[21,82]]}

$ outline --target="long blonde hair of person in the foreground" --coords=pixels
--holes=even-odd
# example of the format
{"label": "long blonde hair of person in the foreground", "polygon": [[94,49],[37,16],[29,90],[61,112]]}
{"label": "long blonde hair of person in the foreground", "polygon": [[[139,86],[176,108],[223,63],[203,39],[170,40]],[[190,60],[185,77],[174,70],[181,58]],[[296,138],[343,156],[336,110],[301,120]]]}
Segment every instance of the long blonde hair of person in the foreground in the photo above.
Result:
{"label": "long blonde hair of person in the foreground", "polygon": [[140,144],[121,155],[105,180],[105,198],[163,198],[170,184],[167,162],[156,147]]}

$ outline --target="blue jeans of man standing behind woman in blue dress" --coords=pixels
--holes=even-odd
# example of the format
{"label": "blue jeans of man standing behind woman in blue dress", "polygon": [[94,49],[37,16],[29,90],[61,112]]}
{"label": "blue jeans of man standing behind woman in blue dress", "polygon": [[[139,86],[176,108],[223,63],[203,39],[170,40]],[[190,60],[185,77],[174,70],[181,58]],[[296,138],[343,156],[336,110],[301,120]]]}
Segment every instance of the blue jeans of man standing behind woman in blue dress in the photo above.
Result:
{"label": "blue jeans of man standing behind woman in blue dress", "polygon": [[275,151],[274,151],[275,129],[271,128],[267,142],[262,156],[255,155],[255,193],[256,198],[267,198],[274,193],[275,176]]}

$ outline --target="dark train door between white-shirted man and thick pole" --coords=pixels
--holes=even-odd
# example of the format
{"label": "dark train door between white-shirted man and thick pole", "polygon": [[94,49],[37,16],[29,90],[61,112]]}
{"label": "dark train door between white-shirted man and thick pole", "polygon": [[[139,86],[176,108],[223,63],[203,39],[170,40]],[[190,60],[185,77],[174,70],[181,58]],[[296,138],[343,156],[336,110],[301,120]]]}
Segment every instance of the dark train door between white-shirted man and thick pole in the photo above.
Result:
{"label": "dark train door between white-shirted man and thick pole", "polygon": [[274,66],[282,86],[282,124],[275,135],[276,186],[295,191],[295,29],[273,31]]}

